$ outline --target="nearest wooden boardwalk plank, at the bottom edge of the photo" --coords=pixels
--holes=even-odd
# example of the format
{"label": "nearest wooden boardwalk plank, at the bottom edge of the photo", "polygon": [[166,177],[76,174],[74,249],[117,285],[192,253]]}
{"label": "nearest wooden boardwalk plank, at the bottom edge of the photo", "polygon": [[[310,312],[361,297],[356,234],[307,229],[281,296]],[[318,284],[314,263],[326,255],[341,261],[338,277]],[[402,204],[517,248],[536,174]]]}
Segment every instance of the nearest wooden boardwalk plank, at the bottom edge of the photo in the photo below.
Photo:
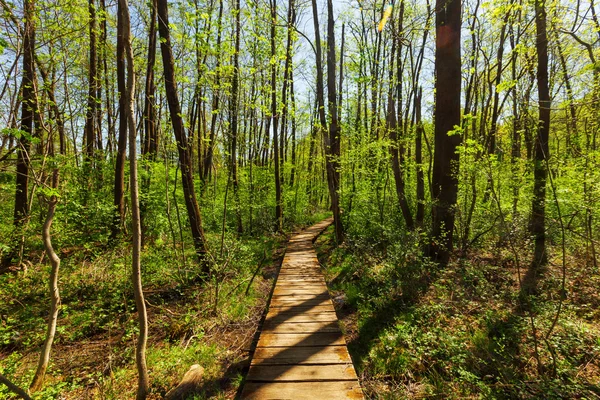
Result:
{"label": "nearest wooden boardwalk plank, at the bottom edge of the photo", "polygon": [[244,386],[245,400],[346,400],[363,399],[358,382],[273,382],[268,385],[248,382]]}

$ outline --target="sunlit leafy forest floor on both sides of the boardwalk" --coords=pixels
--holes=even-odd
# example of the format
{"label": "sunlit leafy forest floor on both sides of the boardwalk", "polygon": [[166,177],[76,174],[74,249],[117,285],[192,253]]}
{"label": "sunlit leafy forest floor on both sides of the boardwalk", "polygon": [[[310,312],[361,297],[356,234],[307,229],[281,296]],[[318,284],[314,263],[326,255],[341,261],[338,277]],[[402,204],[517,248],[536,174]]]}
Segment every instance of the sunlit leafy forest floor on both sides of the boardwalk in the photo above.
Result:
{"label": "sunlit leafy forest floor on both sides of the boardwalk", "polygon": [[[205,369],[197,398],[236,395],[285,241],[227,238],[219,279],[209,282],[191,267],[190,246],[185,264],[181,248],[160,241],[145,248],[150,398],[162,398],[193,364]],[[519,271],[506,248],[482,246],[439,269],[419,243],[350,234],[336,247],[332,228],[316,242],[368,398],[600,399],[600,271],[581,267],[584,254],[567,257],[562,302],[562,264],[551,259],[540,296],[524,312],[516,307]],[[62,248],[59,256],[62,307],[36,399],[133,398],[130,248],[92,243]],[[31,382],[48,315],[49,267],[41,248],[28,258],[39,262],[0,276],[0,372],[21,387]],[[0,398],[10,398],[5,387]]]}

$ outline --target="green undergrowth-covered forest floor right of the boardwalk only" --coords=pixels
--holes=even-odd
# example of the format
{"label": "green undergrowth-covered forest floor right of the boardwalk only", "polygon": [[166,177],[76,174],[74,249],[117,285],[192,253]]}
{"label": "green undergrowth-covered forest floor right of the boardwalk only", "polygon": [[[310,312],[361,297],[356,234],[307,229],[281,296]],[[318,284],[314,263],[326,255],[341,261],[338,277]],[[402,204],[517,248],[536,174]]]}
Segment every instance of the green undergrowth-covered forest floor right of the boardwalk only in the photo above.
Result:
{"label": "green undergrowth-covered forest floor right of the boardwalk only", "polygon": [[330,229],[316,246],[369,398],[600,399],[600,271],[582,254],[567,258],[562,301],[553,259],[523,311],[502,247],[439,269],[418,239],[335,247]]}

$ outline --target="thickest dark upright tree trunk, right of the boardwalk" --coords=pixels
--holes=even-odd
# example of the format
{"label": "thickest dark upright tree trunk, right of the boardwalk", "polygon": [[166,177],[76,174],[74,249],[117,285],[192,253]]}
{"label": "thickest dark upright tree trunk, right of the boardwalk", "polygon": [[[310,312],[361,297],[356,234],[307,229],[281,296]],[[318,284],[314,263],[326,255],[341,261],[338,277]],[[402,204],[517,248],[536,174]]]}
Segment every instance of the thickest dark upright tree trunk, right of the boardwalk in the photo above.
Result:
{"label": "thickest dark upright tree trunk, right of the boardwalk", "polygon": [[437,0],[435,49],[435,144],[432,197],[433,246],[431,256],[442,265],[452,251],[454,206],[458,193],[458,154],[461,142],[452,134],[460,125],[460,29],[461,2]]}

